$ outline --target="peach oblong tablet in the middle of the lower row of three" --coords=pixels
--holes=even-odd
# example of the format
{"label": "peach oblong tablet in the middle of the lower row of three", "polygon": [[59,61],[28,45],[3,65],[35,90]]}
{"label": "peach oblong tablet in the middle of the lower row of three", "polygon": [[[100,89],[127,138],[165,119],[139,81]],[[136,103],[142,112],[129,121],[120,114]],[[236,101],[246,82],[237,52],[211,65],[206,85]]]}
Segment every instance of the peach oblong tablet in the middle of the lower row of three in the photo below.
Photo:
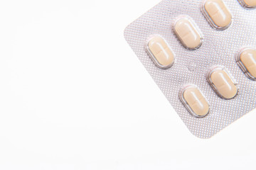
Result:
{"label": "peach oblong tablet in the middle of the lower row of three", "polygon": [[235,81],[223,67],[213,69],[209,74],[208,80],[221,98],[232,99],[238,94],[238,87]]}

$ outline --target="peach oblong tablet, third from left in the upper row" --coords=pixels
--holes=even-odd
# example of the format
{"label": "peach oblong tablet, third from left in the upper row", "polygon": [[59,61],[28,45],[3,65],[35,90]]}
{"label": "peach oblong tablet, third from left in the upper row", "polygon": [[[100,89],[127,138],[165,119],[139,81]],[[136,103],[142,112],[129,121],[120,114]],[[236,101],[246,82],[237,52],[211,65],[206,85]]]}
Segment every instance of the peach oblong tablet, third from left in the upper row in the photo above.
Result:
{"label": "peach oblong tablet, third from left in the upper row", "polygon": [[206,0],[202,8],[210,25],[217,30],[225,30],[232,23],[232,14],[223,0]]}

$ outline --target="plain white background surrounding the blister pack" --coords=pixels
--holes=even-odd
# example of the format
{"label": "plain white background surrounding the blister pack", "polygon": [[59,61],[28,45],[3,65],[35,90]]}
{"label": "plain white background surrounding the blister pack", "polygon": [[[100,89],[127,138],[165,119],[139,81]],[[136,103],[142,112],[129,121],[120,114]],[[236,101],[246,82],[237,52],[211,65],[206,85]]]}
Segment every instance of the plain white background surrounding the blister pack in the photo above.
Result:
{"label": "plain white background surrounding the blister pack", "polygon": [[255,112],[194,137],[125,42],[157,3],[1,0],[0,169],[256,169]]}

